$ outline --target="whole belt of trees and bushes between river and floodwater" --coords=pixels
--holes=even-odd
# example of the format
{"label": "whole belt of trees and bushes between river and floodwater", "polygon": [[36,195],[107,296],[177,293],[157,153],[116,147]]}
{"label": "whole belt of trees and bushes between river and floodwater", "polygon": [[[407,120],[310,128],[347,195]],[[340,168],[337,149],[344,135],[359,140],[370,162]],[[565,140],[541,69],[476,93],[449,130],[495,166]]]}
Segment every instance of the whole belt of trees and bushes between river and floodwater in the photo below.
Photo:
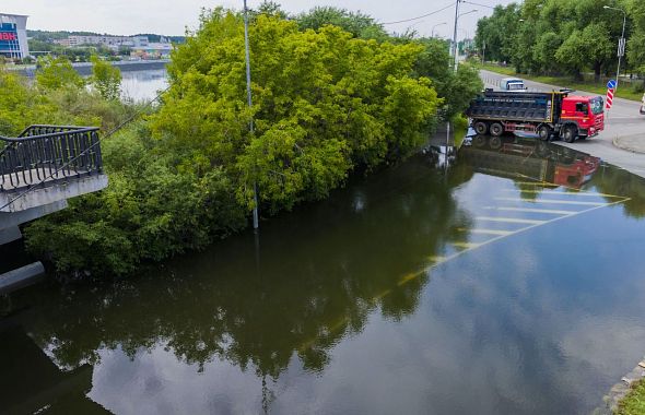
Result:
{"label": "whole belt of trees and bushes between river and floodwater", "polygon": [[[124,275],[203,248],[248,225],[254,186],[263,218],[324,199],[350,175],[413,154],[482,88],[474,68],[450,71],[444,40],[388,35],[360,13],[286,19],[265,3],[251,17],[253,109],[242,15],[204,11],[172,56],[160,105],[103,141],[108,188],[30,225],[33,253],[63,275]],[[117,99],[120,76],[95,63],[90,90],[62,58],[33,85],[0,72],[13,88],[0,88],[0,133],[30,123],[105,132],[142,110]]]}

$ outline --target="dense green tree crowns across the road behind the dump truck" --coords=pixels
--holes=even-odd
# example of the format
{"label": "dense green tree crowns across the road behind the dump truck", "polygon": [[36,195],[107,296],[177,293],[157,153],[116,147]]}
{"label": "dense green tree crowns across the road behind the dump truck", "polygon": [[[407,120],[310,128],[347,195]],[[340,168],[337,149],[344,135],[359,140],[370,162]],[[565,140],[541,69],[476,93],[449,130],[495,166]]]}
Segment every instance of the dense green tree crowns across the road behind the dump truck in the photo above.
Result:
{"label": "dense green tree crowns across the road behind the dump truck", "polygon": [[[615,47],[622,31],[620,11],[630,11],[628,55],[635,66],[645,62],[638,0],[526,0],[520,5],[497,7],[492,16],[478,22],[476,44],[490,60],[513,63],[518,73],[568,73],[577,78],[593,70],[596,80],[615,68]],[[630,5],[630,8],[628,8]],[[630,31],[629,19],[635,29]],[[643,26],[645,27],[645,25]],[[643,49],[643,50],[642,50]]]}

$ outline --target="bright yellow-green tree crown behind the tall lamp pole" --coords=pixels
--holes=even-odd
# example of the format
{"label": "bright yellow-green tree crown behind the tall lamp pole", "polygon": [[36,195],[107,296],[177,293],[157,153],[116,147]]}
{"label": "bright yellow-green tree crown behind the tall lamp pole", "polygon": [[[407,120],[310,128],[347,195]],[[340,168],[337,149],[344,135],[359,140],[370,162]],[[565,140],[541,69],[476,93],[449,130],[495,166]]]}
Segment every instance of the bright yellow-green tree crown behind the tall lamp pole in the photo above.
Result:
{"label": "bright yellow-green tree crown behind the tall lamp pole", "polygon": [[421,144],[441,99],[413,79],[423,48],[357,39],[340,27],[300,31],[258,15],[250,27],[255,134],[245,103],[243,25],[215,10],[173,56],[155,135],[187,169],[221,166],[253,206],[270,212],[324,198],[353,168],[400,159]]}

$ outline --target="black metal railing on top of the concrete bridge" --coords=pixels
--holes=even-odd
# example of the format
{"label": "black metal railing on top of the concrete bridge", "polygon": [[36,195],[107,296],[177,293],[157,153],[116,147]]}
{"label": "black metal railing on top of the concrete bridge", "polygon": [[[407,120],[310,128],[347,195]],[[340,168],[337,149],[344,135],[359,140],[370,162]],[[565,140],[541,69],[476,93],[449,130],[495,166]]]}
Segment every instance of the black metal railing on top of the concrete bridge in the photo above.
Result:
{"label": "black metal railing on top of the concrete bridge", "polygon": [[102,168],[97,127],[31,126],[17,138],[0,137],[0,192],[50,186]]}

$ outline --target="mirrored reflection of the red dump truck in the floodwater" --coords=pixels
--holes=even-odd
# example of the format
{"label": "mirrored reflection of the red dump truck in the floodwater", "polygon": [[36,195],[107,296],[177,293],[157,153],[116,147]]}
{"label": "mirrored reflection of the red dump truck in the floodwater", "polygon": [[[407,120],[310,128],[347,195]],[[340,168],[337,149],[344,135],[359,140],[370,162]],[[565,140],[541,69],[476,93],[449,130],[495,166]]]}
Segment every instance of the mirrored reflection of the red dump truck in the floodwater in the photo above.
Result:
{"label": "mirrored reflection of the red dump truck in the floodwater", "polygon": [[586,153],[521,138],[476,135],[459,157],[476,171],[579,189],[600,165]]}

